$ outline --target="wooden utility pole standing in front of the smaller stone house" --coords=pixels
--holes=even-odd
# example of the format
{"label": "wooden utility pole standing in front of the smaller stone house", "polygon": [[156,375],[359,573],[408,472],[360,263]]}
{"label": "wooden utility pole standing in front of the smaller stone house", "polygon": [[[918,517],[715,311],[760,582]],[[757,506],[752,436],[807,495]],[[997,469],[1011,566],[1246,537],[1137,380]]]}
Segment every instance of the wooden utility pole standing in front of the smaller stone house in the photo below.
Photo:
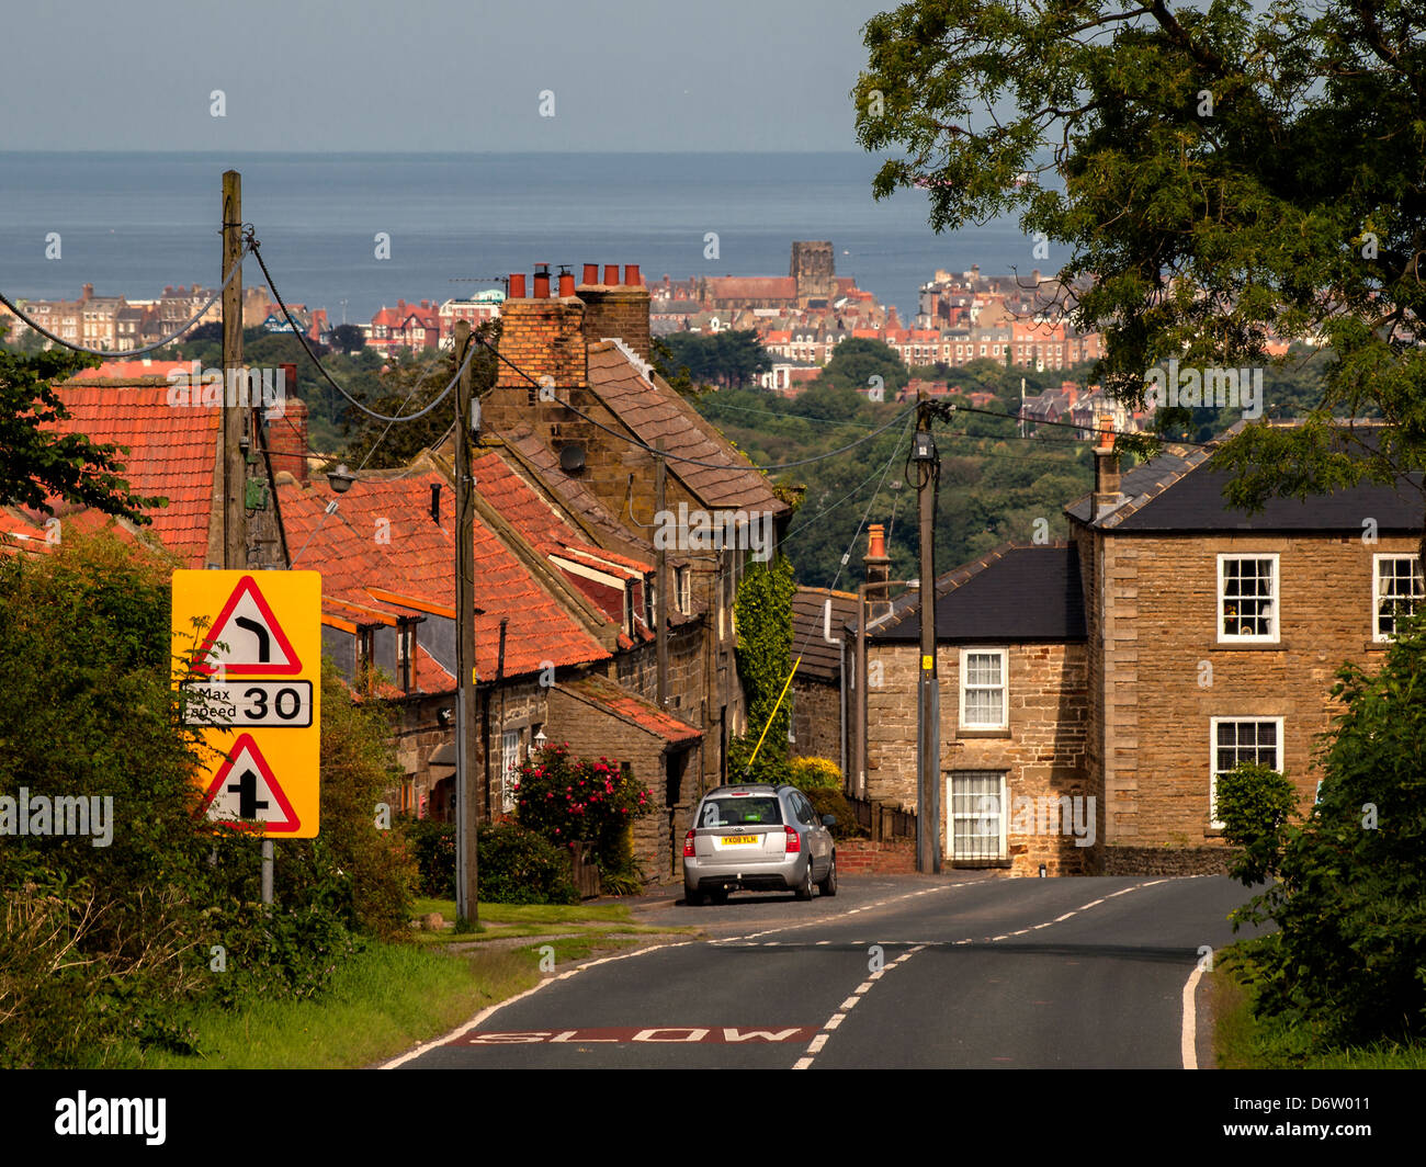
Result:
{"label": "wooden utility pole standing in front of the smaller stone house", "polygon": [[917,690],[915,869],[941,872],[941,690],[935,671],[935,485],[940,459],[931,438],[925,384],[915,394],[915,489],[921,551],[921,668]]}

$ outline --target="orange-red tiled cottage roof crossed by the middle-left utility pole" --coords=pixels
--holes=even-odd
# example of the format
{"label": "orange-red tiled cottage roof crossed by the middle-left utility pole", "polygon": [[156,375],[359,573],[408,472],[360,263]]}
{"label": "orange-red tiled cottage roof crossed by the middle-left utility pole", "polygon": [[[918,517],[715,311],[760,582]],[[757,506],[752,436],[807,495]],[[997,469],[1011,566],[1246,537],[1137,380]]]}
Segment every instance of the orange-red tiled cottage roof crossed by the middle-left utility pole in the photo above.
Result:
{"label": "orange-red tiled cottage roof crossed by the middle-left utility pole", "polygon": [[[312,484],[307,489],[278,488],[288,546],[294,555],[301,551],[294,566],[322,572],[324,609],[344,619],[352,618],[352,605],[409,615],[409,608],[392,602],[392,593],[453,609],[453,508],[443,508],[439,525],[431,519],[431,486],[436,482],[445,484],[436,471],[389,479],[361,478],[339,496],[334,515],[325,515],[325,508],[338,495],[327,484]],[[389,528],[378,519],[385,519]],[[389,536],[388,541],[376,542],[378,532]],[[502,618],[509,621],[506,676],[539,672],[546,662],[563,666],[609,659],[609,652],[539,586],[479,519],[475,522],[475,658],[482,678],[495,675]],[[378,592],[381,596],[375,595]],[[418,682],[419,678],[418,666]]]}

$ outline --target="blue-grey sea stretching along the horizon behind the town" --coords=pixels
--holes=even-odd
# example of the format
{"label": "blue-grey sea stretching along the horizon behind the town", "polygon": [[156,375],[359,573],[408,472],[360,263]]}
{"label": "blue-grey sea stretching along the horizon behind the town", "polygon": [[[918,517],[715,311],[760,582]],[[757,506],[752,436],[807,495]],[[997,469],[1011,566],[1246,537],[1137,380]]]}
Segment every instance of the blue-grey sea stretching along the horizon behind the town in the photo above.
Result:
{"label": "blue-grey sea stretching along the horizon behind the town", "polygon": [[[0,290],[151,300],[217,287],[224,170],[242,175],[242,218],[282,298],[334,324],[472,295],[536,263],[576,278],[586,263],[639,264],[646,282],[786,275],[794,240],[830,240],[837,274],[903,324],[938,268],[1051,267],[1014,221],[937,235],[924,191],[877,201],[877,167],[856,151],[0,153]],[[242,278],[262,274],[248,260]]]}

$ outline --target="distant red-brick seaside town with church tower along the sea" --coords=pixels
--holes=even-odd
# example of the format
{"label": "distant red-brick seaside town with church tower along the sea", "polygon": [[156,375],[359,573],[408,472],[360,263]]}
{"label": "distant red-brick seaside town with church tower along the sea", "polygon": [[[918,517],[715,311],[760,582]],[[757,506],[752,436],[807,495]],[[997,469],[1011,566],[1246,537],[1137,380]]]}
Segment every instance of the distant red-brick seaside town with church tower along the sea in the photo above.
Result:
{"label": "distant red-brick seaside town with church tower along the sea", "polygon": [[[617,285],[643,280],[637,267],[600,268],[585,264],[579,285]],[[560,274],[572,284],[573,272],[560,268],[543,271],[545,284],[558,294]],[[536,272],[536,281],[540,272]],[[1098,332],[1081,332],[1070,320],[1072,290],[1038,270],[1028,278],[984,275],[978,265],[970,271],[937,270],[920,288],[918,311],[910,324],[896,307],[881,304],[870,291],[858,288],[853,277],[837,275],[831,241],[796,241],[787,275],[690,277],[674,281],[665,274],[647,284],[649,331],[653,337],[673,332],[714,334],[750,331],[769,355],[767,368],[757,384],[784,397],[796,397],[801,387],[817,378],[837,345],[857,337],[881,341],[901,361],[917,371],[934,370],[934,378],[915,378],[897,394],[914,398],[924,389],[928,397],[958,395],[960,387],[945,374],[975,360],[991,360],[1008,367],[1034,370],[1070,370],[1102,355]],[[327,308],[289,304],[292,318],[314,342],[335,345],[337,330],[361,334],[365,348],[379,354],[404,350],[449,348],[458,320],[471,327],[501,315],[509,294],[491,288],[466,298],[406,301],[379,308],[368,322],[332,324]],[[197,327],[217,324],[221,308],[208,304],[214,290],[165,287],[154,300],[125,295],[97,295],[86,284],[78,300],[21,300],[20,307],[48,331],[71,344],[108,350],[116,355],[153,345],[193,318],[205,304]],[[6,337],[14,344],[29,327],[0,307],[0,321],[9,325]],[[265,287],[244,288],[244,328],[291,332],[278,304]],[[349,337],[355,340],[355,334]],[[1286,351],[1286,344],[1271,341],[1269,352]],[[984,394],[970,394],[970,398]],[[973,404],[985,404],[974,402]],[[1151,412],[1151,411],[1149,411]],[[1094,418],[1108,414],[1117,428],[1142,428],[1148,414],[1129,412],[1109,399],[1098,387],[1064,381],[1058,387],[1024,397],[1020,415],[1027,424],[1071,422],[1087,435]]]}

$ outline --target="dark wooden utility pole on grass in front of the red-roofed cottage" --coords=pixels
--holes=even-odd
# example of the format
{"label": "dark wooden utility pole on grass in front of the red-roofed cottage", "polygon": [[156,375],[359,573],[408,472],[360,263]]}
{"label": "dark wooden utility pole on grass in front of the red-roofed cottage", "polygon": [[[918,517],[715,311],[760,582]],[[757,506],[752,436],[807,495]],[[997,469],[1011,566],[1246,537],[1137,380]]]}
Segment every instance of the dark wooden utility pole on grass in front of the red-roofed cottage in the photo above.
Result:
{"label": "dark wooden utility pole on grass in front of the red-roofed cottage", "polygon": [[475,498],[471,477],[471,322],[455,322],[455,914],[478,919],[475,826]]}

